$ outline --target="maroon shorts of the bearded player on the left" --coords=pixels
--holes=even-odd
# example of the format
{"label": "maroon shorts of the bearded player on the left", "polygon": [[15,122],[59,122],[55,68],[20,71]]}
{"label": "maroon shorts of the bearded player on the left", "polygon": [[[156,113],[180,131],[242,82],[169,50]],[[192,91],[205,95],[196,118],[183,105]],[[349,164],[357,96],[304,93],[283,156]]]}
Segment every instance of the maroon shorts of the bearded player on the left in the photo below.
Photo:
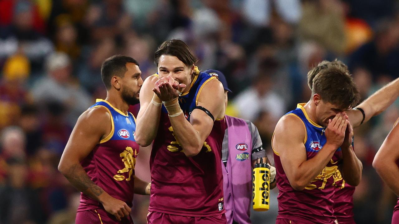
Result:
{"label": "maroon shorts of the bearded player on the left", "polygon": [[133,220],[130,215],[128,217],[122,218],[121,221],[118,221],[115,216],[109,214],[107,211],[101,208],[76,212],[75,222],[76,224],[133,224]]}

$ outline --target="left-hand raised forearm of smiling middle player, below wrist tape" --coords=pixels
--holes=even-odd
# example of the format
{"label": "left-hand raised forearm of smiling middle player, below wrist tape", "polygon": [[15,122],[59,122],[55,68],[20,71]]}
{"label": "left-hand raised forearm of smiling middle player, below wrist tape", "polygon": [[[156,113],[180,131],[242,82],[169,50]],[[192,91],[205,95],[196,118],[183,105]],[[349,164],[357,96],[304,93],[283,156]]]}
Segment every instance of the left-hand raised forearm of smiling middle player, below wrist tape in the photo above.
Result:
{"label": "left-hand raised forearm of smiling middle player, below wrist tape", "polygon": [[139,111],[136,122],[135,140],[140,146],[145,147],[150,145],[156,137],[161,114],[161,104],[157,104],[159,102],[150,102],[146,108],[141,108]]}

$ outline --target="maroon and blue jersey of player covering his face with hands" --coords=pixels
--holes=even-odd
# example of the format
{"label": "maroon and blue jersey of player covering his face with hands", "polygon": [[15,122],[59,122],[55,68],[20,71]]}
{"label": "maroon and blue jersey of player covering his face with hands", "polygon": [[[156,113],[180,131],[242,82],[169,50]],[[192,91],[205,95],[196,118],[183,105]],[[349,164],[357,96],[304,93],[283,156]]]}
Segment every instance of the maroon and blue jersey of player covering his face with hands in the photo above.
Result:
{"label": "maroon and blue jersey of player covering his face with hands", "polygon": [[[304,104],[298,104],[295,110],[284,116],[295,116],[303,122],[306,129],[304,146],[308,160],[316,156],[320,150],[323,150],[326,136],[324,135],[324,128],[309,119],[303,106]],[[277,218],[306,224],[334,224],[336,217],[333,208],[335,191],[333,185],[340,178],[342,179],[337,173],[338,164],[342,158],[342,154],[340,156],[341,149],[337,149],[326,167],[302,191],[296,191],[292,188],[282,167],[279,152],[275,151],[274,147],[273,151],[277,172],[277,187],[279,189],[279,196],[277,196],[279,214]]]}

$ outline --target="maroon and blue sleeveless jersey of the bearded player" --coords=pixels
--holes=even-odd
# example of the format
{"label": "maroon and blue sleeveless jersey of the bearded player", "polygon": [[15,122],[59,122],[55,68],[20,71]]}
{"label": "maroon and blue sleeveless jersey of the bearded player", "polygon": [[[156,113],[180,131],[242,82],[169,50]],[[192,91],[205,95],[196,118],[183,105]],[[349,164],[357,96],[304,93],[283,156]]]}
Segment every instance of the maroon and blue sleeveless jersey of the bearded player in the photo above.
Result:
{"label": "maroon and blue sleeveless jersey of the bearded player", "polygon": [[[105,100],[97,100],[90,108],[100,106],[107,108],[111,114],[112,131],[81,161],[81,165],[96,185],[132,207],[134,165],[139,150],[139,145],[134,140],[135,118],[131,113],[123,114]],[[96,208],[102,208],[102,204],[81,193],[77,211]]]}

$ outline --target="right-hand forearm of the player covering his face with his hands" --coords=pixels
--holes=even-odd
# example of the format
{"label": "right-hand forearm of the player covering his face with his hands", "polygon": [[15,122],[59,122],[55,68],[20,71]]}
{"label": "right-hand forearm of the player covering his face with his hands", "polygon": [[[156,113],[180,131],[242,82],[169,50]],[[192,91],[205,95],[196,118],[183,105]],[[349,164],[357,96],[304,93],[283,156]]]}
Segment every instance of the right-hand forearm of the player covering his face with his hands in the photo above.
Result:
{"label": "right-hand forearm of the player covering his face with his hands", "polygon": [[361,180],[361,171],[363,169],[363,164],[356,156],[353,151],[352,145],[349,148],[342,149],[342,176],[344,180],[352,185],[358,186]]}

